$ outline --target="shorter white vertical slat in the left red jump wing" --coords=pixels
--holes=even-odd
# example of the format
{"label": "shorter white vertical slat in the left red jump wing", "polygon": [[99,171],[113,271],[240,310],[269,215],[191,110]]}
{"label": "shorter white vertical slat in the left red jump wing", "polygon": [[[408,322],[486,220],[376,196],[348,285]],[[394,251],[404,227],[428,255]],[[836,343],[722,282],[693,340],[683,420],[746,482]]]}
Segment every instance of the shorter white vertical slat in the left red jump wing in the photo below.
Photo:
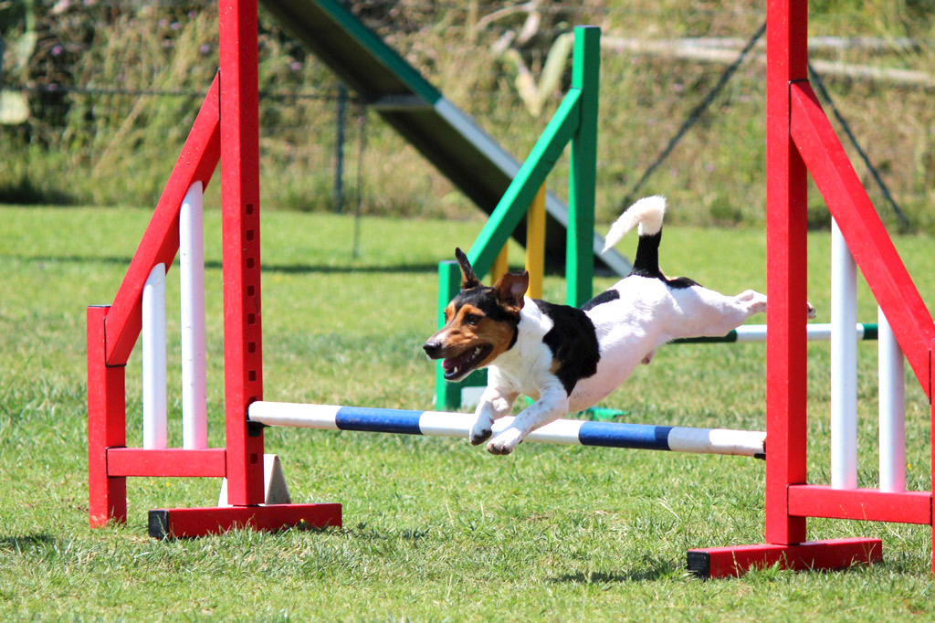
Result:
{"label": "shorter white vertical slat in the left red jump wing", "polygon": [[157,264],[143,286],[143,447],[166,446],[165,265]]}

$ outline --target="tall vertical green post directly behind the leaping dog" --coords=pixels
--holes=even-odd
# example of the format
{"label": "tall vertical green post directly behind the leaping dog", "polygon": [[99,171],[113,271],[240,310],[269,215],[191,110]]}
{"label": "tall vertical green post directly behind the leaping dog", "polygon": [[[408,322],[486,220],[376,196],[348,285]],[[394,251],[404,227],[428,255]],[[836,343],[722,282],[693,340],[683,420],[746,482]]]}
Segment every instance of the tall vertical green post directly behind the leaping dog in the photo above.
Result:
{"label": "tall vertical green post directly behind the leaping dog", "polygon": [[575,28],[571,88],[581,89],[581,121],[571,138],[568,181],[566,302],[582,306],[593,293],[594,202],[597,185],[597,90],[600,81],[600,28]]}

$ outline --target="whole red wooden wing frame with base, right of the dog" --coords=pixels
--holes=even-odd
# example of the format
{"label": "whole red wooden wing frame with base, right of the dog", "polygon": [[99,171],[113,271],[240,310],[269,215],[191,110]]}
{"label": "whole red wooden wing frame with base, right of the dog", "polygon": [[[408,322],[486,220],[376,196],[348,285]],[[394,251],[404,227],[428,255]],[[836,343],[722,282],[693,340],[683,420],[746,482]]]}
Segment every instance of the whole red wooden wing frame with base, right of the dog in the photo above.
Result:
{"label": "whole red wooden wing frame with base, right of the dog", "polygon": [[[899,346],[929,399],[935,324],[809,85],[807,26],[805,0],[770,0],[766,543],[689,551],[689,569],[703,577],[739,575],[773,564],[788,569],[841,569],[882,559],[879,539],[808,541],[807,517],[933,525],[931,491],[837,490],[808,483],[802,312],[807,283],[807,173],[812,174],[871,292],[891,319]],[[935,427],[932,444],[935,465]],[[935,470],[932,473],[935,489]],[[935,571],[935,553],[932,565]]]}

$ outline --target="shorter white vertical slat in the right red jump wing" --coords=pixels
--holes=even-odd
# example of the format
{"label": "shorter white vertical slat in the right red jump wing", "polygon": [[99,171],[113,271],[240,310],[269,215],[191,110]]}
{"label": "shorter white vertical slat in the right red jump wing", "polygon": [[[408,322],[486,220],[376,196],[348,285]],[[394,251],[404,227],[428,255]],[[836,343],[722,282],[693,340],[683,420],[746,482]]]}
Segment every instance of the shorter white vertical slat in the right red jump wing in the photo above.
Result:
{"label": "shorter white vertical slat in the right red jump wing", "polygon": [[878,310],[880,380],[880,490],[906,489],[906,386],[893,329]]}

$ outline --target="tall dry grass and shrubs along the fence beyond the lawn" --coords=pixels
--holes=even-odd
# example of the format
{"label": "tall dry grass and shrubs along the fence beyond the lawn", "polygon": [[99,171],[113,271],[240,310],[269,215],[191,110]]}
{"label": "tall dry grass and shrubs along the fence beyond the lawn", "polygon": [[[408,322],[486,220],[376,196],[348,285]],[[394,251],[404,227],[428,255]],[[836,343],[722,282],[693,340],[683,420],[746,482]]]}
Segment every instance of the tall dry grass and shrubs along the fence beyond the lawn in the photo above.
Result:
{"label": "tall dry grass and shrubs along the fence beyond the lawn", "polygon": [[[677,211],[676,221],[760,224],[761,3],[675,4],[380,0],[347,6],[520,158],[568,84],[566,66],[546,88],[543,68],[554,41],[575,23],[600,24],[606,36],[598,217],[611,218],[641,193],[663,193],[691,206]],[[200,0],[36,5],[41,10],[31,15],[0,9],[6,44],[0,202],[150,205],[216,71],[217,7]],[[672,22],[682,24],[679,32]],[[931,229],[929,39],[826,36],[816,37],[813,49],[813,81],[881,214],[902,229]],[[267,205],[474,213],[366,101],[262,10],[260,63]],[[902,73],[855,78],[855,66]],[[541,113],[531,107],[530,93],[539,97]],[[550,180],[559,195],[566,170],[560,161]],[[813,225],[827,225],[814,193],[811,202]]]}

